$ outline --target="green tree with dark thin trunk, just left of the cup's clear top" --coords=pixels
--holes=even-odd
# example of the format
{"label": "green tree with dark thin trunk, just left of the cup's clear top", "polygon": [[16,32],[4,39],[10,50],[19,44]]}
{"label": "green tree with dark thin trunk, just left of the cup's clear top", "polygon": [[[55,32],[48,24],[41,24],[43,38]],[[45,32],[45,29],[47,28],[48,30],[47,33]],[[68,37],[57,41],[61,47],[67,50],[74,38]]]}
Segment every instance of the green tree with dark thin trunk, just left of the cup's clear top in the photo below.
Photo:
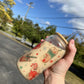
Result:
{"label": "green tree with dark thin trunk, just left of the cup's clear top", "polygon": [[41,40],[41,36],[37,29],[39,26],[36,24],[34,26],[33,25],[34,24],[29,19],[27,19],[23,24],[23,34],[31,41],[31,47],[33,47],[34,43],[39,43]]}

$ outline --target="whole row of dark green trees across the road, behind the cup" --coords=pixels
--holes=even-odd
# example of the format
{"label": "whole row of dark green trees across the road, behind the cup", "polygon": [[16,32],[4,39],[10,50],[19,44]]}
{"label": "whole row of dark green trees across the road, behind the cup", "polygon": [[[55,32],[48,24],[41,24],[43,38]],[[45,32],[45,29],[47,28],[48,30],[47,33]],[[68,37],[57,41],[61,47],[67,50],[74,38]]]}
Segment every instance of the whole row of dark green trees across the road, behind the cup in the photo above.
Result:
{"label": "whole row of dark green trees across the road, behind the cup", "polygon": [[14,19],[14,27],[13,32],[18,36],[24,35],[25,38],[28,38],[32,42],[32,47],[34,43],[39,43],[41,39],[45,39],[47,35],[55,34],[56,26],[51,25],[46,29],[42,29],[39,24],[33,24],[30,19],[26,19],[22,24],[22,18],[20,15],[16,19]]}

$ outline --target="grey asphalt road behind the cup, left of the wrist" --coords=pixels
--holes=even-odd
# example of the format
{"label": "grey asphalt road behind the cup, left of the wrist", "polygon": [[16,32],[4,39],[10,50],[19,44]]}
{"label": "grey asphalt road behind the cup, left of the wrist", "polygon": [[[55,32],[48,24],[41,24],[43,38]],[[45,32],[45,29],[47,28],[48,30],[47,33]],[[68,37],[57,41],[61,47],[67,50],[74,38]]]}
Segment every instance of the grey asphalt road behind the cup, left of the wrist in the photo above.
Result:
{"label": "grey asphalt road behind the cup, left of the wrist", "polygon": [[29,81],[18,71],[18,58],[29,50],[30,48],[0,34],[0,84],[43,84],[43,74]]}

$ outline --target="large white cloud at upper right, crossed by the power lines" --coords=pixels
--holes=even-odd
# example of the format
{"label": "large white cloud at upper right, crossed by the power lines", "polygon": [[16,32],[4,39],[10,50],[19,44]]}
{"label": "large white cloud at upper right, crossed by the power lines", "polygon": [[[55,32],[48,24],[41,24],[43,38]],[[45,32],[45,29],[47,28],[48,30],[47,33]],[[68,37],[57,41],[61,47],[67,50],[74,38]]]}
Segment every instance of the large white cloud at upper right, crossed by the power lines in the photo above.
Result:
{"label": "large white cloud at upper right, crossed by the power lines", "polygon": [[[63,12],[72,14],[77,17],[84,17],[84,0],[48,0],[50,3],[61,4],[61,9]],[[74,27],[84,29],[83,19],[72,19],[69,21]],[[82,30],[84,33],[84,30]]]}

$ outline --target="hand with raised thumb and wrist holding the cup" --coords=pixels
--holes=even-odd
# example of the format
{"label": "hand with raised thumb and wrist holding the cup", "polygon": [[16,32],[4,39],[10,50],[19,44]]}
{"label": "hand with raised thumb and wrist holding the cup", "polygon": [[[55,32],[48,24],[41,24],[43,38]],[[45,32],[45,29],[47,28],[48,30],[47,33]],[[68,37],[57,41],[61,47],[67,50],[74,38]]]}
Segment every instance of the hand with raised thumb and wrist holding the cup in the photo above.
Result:
{"label": "hand with raised thumb and wrist holding the cup", "polygon": [[64,84],[66,72],[73,63],[76,54],[76,47],[72,39],[67,47],[64,58],[60,59],[53,66],[44,71],[45,84]]}

